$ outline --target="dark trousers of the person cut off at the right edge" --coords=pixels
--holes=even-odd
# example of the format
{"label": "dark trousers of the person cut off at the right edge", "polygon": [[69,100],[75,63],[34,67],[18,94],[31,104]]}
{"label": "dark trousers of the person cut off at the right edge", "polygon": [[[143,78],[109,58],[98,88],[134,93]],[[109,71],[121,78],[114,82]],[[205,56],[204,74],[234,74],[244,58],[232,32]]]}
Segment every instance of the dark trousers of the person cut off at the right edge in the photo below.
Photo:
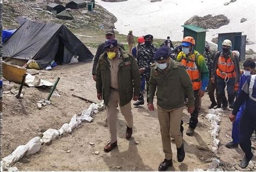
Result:
{"label": "dark trousers of the person cut off at the right edge", "polygon": [[256,117],[249,116],[245,113],[242,114],[240,121],[239,145],[245,152],[247,159],[251,159],[253,156],[251,136],[254,130],[256,130]]}

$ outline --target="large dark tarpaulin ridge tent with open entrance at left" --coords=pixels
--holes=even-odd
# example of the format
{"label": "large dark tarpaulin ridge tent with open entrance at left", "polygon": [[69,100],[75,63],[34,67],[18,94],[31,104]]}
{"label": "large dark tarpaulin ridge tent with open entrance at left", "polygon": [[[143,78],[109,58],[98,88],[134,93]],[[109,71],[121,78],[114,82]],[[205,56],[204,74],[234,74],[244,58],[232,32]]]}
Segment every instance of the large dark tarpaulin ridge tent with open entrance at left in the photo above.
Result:
{"label": "large dark tarpaulin ridge tent with open entrance at left", "polygon": [[91,61],[93,58],[89,49],[60,24],[28,20],[3,44],[4,58],[13,59],[16,61],[14,64],[19,65],[33,59],[41,69],[53,60],[69,63],[73,55],[79,57],[79,62]]}

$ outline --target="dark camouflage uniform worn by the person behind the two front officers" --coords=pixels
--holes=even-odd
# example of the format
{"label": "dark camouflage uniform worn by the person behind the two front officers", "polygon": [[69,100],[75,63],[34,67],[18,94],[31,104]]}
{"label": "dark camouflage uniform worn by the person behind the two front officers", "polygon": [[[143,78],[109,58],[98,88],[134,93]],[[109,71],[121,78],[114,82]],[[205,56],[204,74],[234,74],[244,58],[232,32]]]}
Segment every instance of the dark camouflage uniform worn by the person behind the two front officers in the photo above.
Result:
{"label": "dark camouflage uniform worn by the person behind the two front officers", "polygon": [[[142,46],[139,49],[138,55],[137,55],[137,61],[138,61],[138,67],[145,68],[144,73],[141,74],[141,78],[145,77],[146,80],[146,87],[147,87],[147,95],[149,95],[149,79],[150,79],[150,70],[151,70],[151,64],[156,62],[154,61],[154,53],[156,53],[157,48],[153,44],[150,46],[146,46],[145,44],[142,44]],[[144,101],[143,91],[139,92],[139,99],[138,101]]]}

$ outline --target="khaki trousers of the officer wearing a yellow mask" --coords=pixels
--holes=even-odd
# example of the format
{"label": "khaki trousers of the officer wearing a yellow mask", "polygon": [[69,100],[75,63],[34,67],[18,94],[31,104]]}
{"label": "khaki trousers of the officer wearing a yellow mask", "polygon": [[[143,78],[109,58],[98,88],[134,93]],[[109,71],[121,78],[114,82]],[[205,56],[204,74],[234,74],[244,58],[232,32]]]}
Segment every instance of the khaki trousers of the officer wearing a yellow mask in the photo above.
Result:
{"label": "khaki trousers of the officer wearing a yellow mask", "polygon": [[[107,126],[109,127],[109,142],[111,144],[117,141],[117,103],[120,106],[119,92],[117,90],[110,89],[110,97],[109,103],[106,106],[106,113]],[[131,128],[133,126],[131,102],[124,106],[120,106],[120,110],[124,116],[126,125]]]}

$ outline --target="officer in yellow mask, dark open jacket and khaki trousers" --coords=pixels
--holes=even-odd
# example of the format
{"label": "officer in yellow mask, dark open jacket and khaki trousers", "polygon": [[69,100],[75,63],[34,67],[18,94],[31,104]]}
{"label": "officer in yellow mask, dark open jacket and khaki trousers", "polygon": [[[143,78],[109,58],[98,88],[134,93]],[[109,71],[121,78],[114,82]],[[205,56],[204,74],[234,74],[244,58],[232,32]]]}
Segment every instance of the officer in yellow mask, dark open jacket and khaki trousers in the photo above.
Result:
{"label": "officer in yellow mask, dark open jacket and khaki trousers", "polygon": [[132,136],[131,99],[138,100],[140,75],[136,60],[118,46],[117,40],[108,40],[104,49],[96,67],[96,89],[98,99],[106,105],[109,142],[104,150],[109,152],[117,146],[117,104],[126,121],[126,139]]}

